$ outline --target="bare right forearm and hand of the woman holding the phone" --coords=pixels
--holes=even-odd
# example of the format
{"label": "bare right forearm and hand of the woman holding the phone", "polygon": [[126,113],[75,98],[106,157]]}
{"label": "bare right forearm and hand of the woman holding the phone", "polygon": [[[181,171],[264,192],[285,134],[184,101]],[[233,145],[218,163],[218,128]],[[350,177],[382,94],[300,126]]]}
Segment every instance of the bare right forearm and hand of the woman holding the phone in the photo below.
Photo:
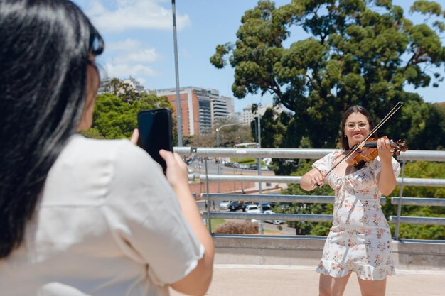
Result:
{"label": "bare right forearm and hand of the woman holding the phone", "polygon": [[177,153],[161,150],[159,153],[167,163],[167,180],[178,197],[183,215],[193,229],[193,233],[203,244],[205,253],[198,265],[185,278],[171,284],[173,289],[187,295],[205,295],[213,274],[213,256],[215,253],[212,236],[205,228],[198,207],[188,187],[187,165]]}

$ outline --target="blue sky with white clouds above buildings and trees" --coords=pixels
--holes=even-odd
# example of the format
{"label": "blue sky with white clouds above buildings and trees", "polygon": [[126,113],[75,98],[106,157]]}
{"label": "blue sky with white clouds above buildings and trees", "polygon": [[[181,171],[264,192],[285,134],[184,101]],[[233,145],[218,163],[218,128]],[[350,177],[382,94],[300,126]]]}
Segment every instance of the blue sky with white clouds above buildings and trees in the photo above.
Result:
{"label": "blue sky with white clouds above buildings and trees", "polygon": [[[274,1],[276,6],[291,0]],[[445,9],[445,0],[436,0]],[[90,17],[105,41],[105,51],[97,58],[108,77],[129,76],[148,89],[176,87],[173,51],[172,6],[168,0],[74,0]],[[414,0],[393,0],[393,4],[409,10]],[[237,99],[232,94],[234,70],[230,66],[217,69],[210,57],[219,44],[235,43],[241,17],[256,6],[256,0],[177,0],[176,27],[180,87],[213,88],[220,95],[233,97],[235,111],[249,104],[272,104],[269,94],[247,95]],[[423,18],[412,15],[414,23]],[[284,45],[306,38],[295,28]],[[444,70],[440,70],[444,73]],[[439,88],[427,87],[406,91],[417,92],[425,102],[445,101],[445,81]]]}

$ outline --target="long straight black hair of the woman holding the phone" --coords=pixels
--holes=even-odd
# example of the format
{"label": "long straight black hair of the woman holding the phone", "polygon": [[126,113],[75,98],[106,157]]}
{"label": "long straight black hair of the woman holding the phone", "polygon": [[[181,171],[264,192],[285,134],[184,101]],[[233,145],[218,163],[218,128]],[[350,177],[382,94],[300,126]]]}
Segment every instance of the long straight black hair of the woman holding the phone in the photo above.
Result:
{"label": "long straight black hair of the woman holding the phone", "polygon": [[68,0],[0,0],[0,258],[23,241],[82,116],[88,57],[103,46]]}

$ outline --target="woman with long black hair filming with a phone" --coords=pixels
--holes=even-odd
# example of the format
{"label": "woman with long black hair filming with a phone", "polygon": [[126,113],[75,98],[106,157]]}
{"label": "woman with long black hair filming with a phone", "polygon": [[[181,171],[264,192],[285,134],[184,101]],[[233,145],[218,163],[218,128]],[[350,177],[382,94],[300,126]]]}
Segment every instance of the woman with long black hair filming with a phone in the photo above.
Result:
{"label": "woman with long black hair filming with a phone", "polygon": [[[186,164],[167,177],[92,124],[102,38],[68,0],[0,0],[2,295],[204,295],[213,241]],[[132,142],[137,140],[134,133]]]}

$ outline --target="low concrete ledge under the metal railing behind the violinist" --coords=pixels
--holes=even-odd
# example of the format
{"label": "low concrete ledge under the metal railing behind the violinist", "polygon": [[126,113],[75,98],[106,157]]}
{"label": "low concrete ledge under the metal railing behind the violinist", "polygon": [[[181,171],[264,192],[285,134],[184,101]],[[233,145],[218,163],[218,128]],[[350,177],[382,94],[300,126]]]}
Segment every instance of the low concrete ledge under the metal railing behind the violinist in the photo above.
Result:
{"label": "low concrete ledge under the metal railing behind the violinist", "polygon": [[[316,267],[326,236],[217,235],[215,264]],[[445,270],[445,241],[392,241],[396,268]]]}

